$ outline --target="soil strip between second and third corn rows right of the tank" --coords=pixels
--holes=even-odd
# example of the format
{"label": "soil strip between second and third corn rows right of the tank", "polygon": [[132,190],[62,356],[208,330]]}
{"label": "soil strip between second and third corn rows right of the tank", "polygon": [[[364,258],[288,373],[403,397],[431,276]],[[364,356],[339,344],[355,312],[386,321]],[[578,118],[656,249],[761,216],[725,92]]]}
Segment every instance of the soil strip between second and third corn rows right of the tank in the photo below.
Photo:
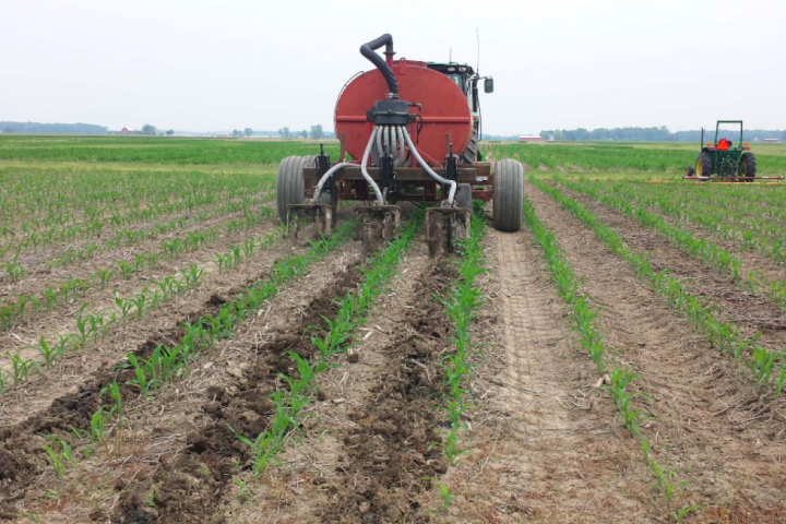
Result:
{"label": "soil strip between second and third corn rows right of the tank", "polygon": [[704,297],[717,308],[716,317],[729,319],[749,336],[761,332],[759,343],[770,349],[786,348],[786,311],[770,299],[740,289],[730,276],[691,259],[657,231],[645,229],[632,218],[563,186],[559,186],[559,189],[597,215],[630,248],[641,253],[651,253],[650,262],[655,271],[670,269],[687,290]]}

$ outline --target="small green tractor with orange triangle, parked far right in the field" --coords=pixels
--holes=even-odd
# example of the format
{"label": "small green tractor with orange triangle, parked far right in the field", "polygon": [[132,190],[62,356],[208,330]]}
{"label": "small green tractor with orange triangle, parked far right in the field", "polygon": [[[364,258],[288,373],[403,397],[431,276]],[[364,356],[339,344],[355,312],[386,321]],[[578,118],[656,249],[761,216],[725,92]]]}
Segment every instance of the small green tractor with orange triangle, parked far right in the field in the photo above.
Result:
{"label": "small green tractor with orange triangle, parked far right in the field", "polygon": [[[722,123],[734,123],[740,127],[737,144],[726,138],[718,139]],[[707,180],[716,176],[724,181],[753,181],[755,179],[755,157],[750,152],[748,142],[742,142],[742,120],[718,120],[715,124],[715,140],[704,143],[702,128],[701,153],[696,157],[695,168],[686,169],[687,179]]]}

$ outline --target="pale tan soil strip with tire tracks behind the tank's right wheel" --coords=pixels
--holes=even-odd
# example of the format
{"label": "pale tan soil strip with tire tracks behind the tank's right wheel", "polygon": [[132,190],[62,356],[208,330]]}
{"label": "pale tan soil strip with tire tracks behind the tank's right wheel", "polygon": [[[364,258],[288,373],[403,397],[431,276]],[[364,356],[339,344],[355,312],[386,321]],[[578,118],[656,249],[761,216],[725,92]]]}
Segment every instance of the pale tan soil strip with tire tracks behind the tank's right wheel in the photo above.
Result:
{"label": "pale tan soil strip with tire tracks behind the tank's right wheel", "polygon": [[455,499],[438,522],[653,522],[639,443],[593,389],[597,369],[531,230],[491,230],[485,243],[478,405],[460,439],[468,455],[442,479]]}

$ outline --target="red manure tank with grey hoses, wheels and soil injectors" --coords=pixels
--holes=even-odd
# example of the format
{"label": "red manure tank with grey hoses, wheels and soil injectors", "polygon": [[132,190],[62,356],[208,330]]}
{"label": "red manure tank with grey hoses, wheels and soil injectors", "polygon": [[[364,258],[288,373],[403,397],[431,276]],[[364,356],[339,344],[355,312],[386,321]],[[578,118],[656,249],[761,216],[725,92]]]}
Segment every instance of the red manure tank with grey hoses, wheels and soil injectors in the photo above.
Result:
{"label": "red manure tank with grey hoses, wheels and soil injectors", "polygon": [[[379,49],[384,48],[382,55]],[[491,201],[501,231],[521,227],[524,169],[512,158],[483,162],[478,83],[493,79],[471,66],[393,60],[393,37],[360,46],[376,69],[353,78],[338,95],[334,123],[337,162],[320,147],[314,156],[289,156],[276,177],[282,222],[311,216],[317,236],[330,235],[342,202],[359,201],[356,236],[370,249],[392,240],[401,203],[426,207],[425,239],[433,257],[468,238],[473,201]],[[412,206],[409,207],[412,209]],[[417,215],[416,215],[417,216]],[[295,223],[295,230],[300,223]]]}

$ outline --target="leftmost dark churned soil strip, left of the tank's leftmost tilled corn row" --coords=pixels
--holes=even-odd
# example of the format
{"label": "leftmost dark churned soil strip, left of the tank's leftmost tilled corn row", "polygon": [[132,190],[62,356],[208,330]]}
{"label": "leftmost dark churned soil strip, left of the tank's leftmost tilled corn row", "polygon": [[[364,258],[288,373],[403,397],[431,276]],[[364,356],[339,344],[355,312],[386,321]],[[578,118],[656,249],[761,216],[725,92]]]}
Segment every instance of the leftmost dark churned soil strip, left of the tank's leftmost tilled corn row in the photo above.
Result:
{"label": "leftmost dark churned soil strip, left of the tank's leftmost tilled corn row", "polygon": [[[305,250],[305,247],[293,248],[295,253]],[[121,348],[122,343],[126,343],[126,347],[122,348],[122,350],[112,348],[112,354],[117,354],[119,358],[111,362],[106,358],[102,359],[97,362],[95,370],[91,374],[87,374],[84,365],[80,366],[80,362],[70,362],[74,365],[76,369],[73,371],[74,374],[69,378],[78,379],[82,382],[75,391],[73,391],[73,383],[64,383],[62,381],[59,384],[55,384],[51,390],[47,390],[47,398],[40,402],[40,404],[46,404],[47,407],[44,407],[40,413],[29,416],[31,403],[22,394],[24,391],[12,390],[12,392],[20,394],[17,401],[22,407],[26,408],[28,416],[25,419],[0,428],[0,519],[8,519],[14,514],[11,509],[12,502],[23,498],[26,488],[49,467],[45,460],[40,439],[36,438],[36,436],[50,433],[69,436],[73,428],[88,431],[91,418],[100,405],[99,392],[106,384],[115,380],[116,373],[114,369],[118,364],[126,361],[122,357],[124,357],[128,352],[134,353],[138,358],[147,358],[158,344],[171,344],[172,341],[180,341],[183,335],[182,326],[186,323],[194,322],[205,314],[216,313],[224,303],[240,296],[245,289],[257,279],[265,278],[275,260],[278,260],[281,257],[281,252],[270,253],[265,260],[258,261],[259,265],[262,265],[262,269],[257,265],[253,269],[253,273],[250,273],[249,269],[247,269],[246,272],[231,275],[231,279],[228,282],[231,286],[225,284],[218,288],[203,289],[200,294],[183,297],[179,300],[182,307],[169,312],[167,315],[169,319],[167,324],[171,325],[171,327],[160,330],[139,329],[139,333],[134,335],[124,335],[128,337],[128,341],[122,341],[122,334],[118,334],[119,338],[115,342],[120,344]],[[200,303],[200,307],[191,307],[190,310],[183,312],[183,309],[193,306],[195,297],[200,297],[196,301],[196,303]],[[153,331],[153,334],[151,334],[151,331]],[[109,342],[112,342],[112,340]],[[120,355],[122,355],[122,357],[120,357]],[[117,377],[118,383],[122,384],[121,393],[123,403],[138,397],[135,390],[124,385],[127,380],[133,378],[133,370],[126,369]],[[20,388],[19,390],[26,389]],[[53,400],[50,400],[53,394],[62,394],[66,391],[73,392],[66,393],[62,396],[55,396]],[[9,396],[10,393],[7,393],[4,397]],[[8,398],[3,400],[8,401]],[[11,402],[13,402],[13,400],[11,400]],[[20,416],[22,414],[20,414]]]}

